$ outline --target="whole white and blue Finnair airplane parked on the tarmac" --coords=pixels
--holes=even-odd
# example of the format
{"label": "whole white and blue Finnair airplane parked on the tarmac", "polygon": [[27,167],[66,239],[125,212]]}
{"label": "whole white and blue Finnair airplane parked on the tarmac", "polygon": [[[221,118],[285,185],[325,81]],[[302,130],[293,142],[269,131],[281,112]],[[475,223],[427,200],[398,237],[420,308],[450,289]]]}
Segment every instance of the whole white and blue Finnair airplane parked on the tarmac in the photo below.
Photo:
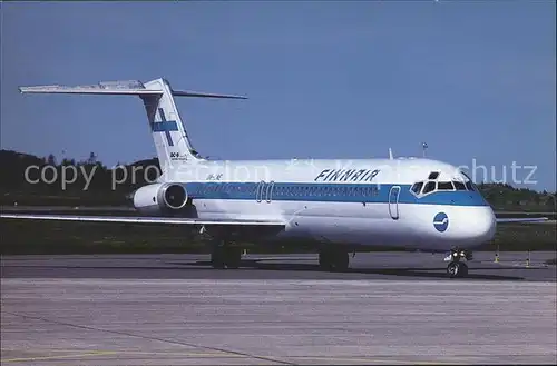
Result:
{"label": "whole white and blue Finnair airplane parked on the tarmac", "polygon": [[319,266],[342,271],[372,246],[449,253],[450,278],[498,219],[469,176],[427,158],[213,160],[193,147],[175,97],[247,99],[174,90],[164,78],[20,87],[21,93],[135,96],[143,100],[162,175],[131,194],[139,217],[2,214],[11,219],[184,225],[212,237],[214,268],[238,268],[240,239],[316,239]]}

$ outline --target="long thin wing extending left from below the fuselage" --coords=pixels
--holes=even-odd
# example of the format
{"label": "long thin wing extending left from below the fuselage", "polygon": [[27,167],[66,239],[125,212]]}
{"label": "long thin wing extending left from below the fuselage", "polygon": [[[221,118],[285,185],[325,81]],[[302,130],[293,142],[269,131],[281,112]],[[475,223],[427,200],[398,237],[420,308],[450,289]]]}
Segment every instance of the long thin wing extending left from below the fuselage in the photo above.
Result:
{"label": "long thin wing extending left from below the fuselage", "polygon": [[123,224],[169,224],[169,225],[199,225],[199,226],[270,226],[284,228],[283,221],[270,220],[246,220],[246,219],[226,219],[207,220],[177,217],[140,217],[140,216],[74,216],[74,215],[32,215],[32,214],[2,214],[1,218],[28,219],[28,220],[61,220],[61,221],[82,221],[82,222],[123,222]]}

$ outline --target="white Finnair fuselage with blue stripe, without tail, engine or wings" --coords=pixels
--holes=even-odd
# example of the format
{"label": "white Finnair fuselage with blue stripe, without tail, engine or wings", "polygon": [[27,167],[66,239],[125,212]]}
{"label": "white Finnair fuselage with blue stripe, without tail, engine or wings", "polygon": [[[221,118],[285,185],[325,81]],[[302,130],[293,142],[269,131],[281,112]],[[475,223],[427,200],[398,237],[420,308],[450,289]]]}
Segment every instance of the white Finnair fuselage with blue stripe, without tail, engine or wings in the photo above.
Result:
{"label": "white Finnair fuselage with blue stripe, without tail, engine or wings", "polygon": [[[479,246],[496,229],[468,177],[429,159],[177,164],[162,181],[183,182],[202,219],[283,220],[280,237],[449,250]],[[428,181],[431,191],[412,191]]]}

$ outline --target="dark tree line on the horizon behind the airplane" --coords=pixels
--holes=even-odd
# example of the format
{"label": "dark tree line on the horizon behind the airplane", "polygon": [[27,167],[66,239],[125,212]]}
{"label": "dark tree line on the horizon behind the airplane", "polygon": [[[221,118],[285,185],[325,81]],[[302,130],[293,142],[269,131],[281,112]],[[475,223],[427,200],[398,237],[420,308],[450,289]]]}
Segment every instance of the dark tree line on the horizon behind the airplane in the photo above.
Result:
{"label": "dark tree line on the horizon behind the airplane", "polygon": [[[113,169],[98,161],[94,152],[87,159],[77,161],[68,158],[58,160],[53,155],[40,158],[0,150],[0,164],[3,170],[0,175],[2,205],[126,205],[127,195],[154,182],[160,175],[157,158]],[[499,210],[555,210],[556,192],[538,192],[508,184],[479,184],[478,188]]]}

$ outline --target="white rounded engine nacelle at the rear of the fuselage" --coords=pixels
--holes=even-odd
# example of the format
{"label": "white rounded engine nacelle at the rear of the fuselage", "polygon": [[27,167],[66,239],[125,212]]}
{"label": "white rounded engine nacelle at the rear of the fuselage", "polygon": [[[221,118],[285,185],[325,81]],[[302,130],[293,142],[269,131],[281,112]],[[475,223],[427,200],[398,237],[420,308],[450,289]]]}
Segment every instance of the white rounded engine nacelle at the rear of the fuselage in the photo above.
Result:
{"label": "white rounded engine nacelle at the rear of the fuselage", "polygon": [[184,208],[187,198],[186,187],[180,184],[153,184],[134,192],[134,207],[143,214],[165,215]]}

